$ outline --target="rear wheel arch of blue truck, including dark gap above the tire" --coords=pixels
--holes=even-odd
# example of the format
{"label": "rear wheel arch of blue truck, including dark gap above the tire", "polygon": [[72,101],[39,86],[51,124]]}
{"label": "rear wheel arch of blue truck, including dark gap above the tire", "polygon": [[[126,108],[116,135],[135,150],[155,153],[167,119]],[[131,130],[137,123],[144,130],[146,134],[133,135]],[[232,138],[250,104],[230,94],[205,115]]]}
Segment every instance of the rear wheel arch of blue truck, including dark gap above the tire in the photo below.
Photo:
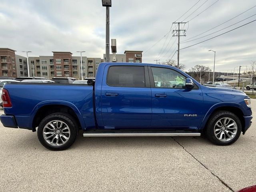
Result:
{"label": "rear wheel arch of blue truck, including dark gap above the tire", "polygon": [[70,114],[74,117],[80,128],[86,128],[82,115],[74,104],[66,101],[46,101],[36,105],[32,111],[32,115],[30,115],[31,120],[29,124],[32,127],[32,131],[36,131],[36,127],[44,117],[55,112]]}

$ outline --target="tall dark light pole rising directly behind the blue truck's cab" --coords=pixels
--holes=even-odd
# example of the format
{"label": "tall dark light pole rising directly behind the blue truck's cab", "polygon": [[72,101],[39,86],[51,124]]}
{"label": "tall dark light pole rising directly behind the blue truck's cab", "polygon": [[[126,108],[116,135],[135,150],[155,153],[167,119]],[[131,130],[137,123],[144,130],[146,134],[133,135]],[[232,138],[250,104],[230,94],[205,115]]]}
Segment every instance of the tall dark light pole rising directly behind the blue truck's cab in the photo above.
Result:
{"label": "tall dark light pole rising directly behind the blue truck's cab", "polygon": [[106,62],[109,62],[109,8],[111,0],[102,0],[102,6],[106,7]]}

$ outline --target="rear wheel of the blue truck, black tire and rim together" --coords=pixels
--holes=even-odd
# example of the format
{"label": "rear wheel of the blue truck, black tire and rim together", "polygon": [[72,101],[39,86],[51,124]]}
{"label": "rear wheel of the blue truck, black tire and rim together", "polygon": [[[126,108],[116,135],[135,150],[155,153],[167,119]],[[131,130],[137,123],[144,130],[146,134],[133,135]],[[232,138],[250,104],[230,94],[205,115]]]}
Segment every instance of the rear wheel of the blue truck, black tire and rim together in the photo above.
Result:
{"label": "rear wheel of the blue truck, black tire and rim together", "polygon": [[76,120],[65,113],[46,116],[39,124],[37,136],[40,143],[50,150],[64,150],[76,140]]}

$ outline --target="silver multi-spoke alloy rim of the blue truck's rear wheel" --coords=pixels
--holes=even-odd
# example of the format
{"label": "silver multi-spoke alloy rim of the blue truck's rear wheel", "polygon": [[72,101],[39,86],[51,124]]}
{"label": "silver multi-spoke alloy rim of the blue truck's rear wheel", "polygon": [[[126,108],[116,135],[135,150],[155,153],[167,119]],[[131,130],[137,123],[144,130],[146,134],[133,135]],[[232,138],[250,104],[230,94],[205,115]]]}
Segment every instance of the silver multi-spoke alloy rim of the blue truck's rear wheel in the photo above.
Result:
{"label": "silver multi-spoke alloy rim of the blue truck's rear wheel", "polygon": [[70,128],[63,121],[53,120],[44,126],[43,137],[52,146],[62,146],[70,138]]}

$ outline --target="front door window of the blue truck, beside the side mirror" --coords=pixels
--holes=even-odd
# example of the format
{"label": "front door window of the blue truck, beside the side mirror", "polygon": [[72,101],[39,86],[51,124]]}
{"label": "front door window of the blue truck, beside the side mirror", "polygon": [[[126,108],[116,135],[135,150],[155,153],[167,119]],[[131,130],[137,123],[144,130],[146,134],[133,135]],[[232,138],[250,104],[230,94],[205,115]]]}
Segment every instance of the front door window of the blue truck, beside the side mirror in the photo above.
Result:
{"label": "front door window of the blue truck, beside the side mirror", "polygon": [[151,67],[156,88],[186,88],[186,77],[175,70]]}

